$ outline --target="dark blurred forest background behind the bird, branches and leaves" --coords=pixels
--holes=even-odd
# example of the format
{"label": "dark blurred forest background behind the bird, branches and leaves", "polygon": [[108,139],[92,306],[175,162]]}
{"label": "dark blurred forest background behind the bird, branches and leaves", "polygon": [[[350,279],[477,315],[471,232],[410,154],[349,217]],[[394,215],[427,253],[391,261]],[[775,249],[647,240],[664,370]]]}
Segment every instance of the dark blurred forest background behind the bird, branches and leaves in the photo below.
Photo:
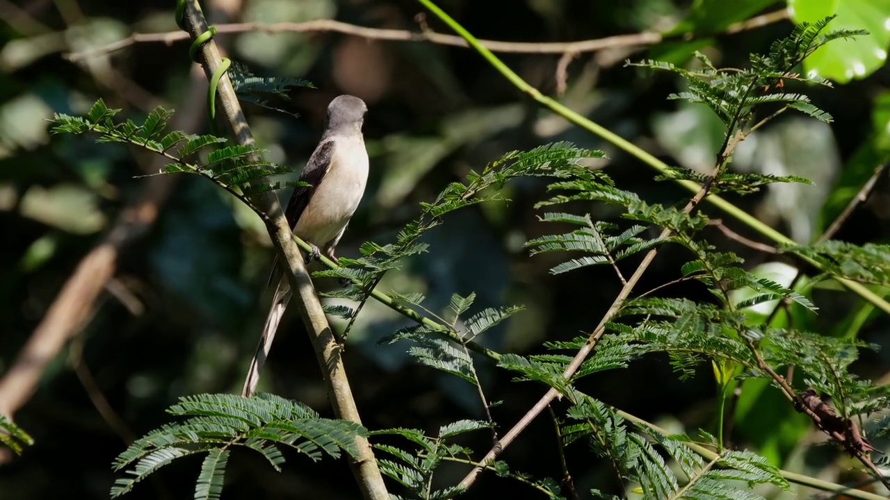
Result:
{"label": "dark blurred forest background behind the bird, branches and leaves", "polygon": [[[238,392],[271,300],[266,279],[272,250],[263,224],[210,181],[185,174],[139,177],[163,164],[144,151],[96,144],[90,136],[50,135],[53,113],[84,114],[97,98],[138,121],[155,106],[176,110],[174,126],[207,132],[206,79],[194,71],[188,43],[173,40],[173,2],[102,0],[0,0],[0,374],[9,375],[29,338],[41,333],[49,359],[30,391],[0,382],[0,405],[36,440],[22,456],[0,456],[4,499],[106,498],[115,479],[111,461],[134,440],[169,421],[166,407],[183,395]],[[729,5],[731,4],[731,5]],[[835,117],[830,125],[787,113],[746,141],[733,164],[740,171],[797,174],[813,186],[782,185],[734,203],[801,243],[817,238],[886,159],[890,125],[890,74],[882,69],[890,37],[881,0],[843,3],[744,0],[442,0],[475,36],[505,42],[565,42],[637,33],[663,33],[640,44],[607,44],[597,52],[502,53],[531,85],[571,109],[633,141],[672,165],[705,170],[723,139],[720,122],[704,107],[667,96],[682,90],[671,75],[624,67],[624,60],[653,58],[686,64],[705,52],[718,66],[740,67],[749,52],[766,52],[794,20],[821,17],[823,4],[841,12],[836,28],[867,28],[857,42],[838,41],[816,54],[805,70],[837,81],[836,88],[800,88]],[[409,0],[206,0],[217,24],[336,19],[372,28],[449,33],[420,4]],[[828,12],[830,13],[830,12]],[[843,14],[843,15],[841,15]],[[419,17],[418,17],[419,16]],[[813,19],[812,17],[809,19]],[[751,21],[748,21],[751,20]],[[841,26],[841,23],[844,23]],[[865,25],[865,26],[863,26]],[[242,29],[241,31],[245,31]],[[683,202],[688,194],[654,181],[651,169],[519,93],[475,52],[426,41],[384,41],[329,31],[247,30],[216,36],[257,76],[306,78],[275,105],[250,104],[247,118],[268,159],[292,166],[295,176],[319,140],[328,102],[352,93],[368,102],[364,128],[371,157],[368,190],[338,254],[355,256],[366,240],[391,242],[448,182],[513,149],[552,141],[603,149],[599,162],[620,188],[651,203]],[[109,44],[143,36],[109,51]],[[651,37],[650,37],[651,38]],[[642,38],[641,38],[642,39]],[[131,39],[132,40],[132,39]],[[294,116],[298,115],[298,116]],[[886,176],[885,176],[886,177]],[[545,340],[587,335],[619,290],[609,269],[587,268],[551,276],[562,256],[530,258],[527,239],[554,232],[538,222],[533,205],[546,182],[507,186],[508,203],[474,206],[450,214],[426,235],[428,254],[389,273],[380,288],[427,295],[425,305],[444,310],[453,293],[477,294],[476,308],[524,304],[526,310],[491,331],[483,343],[496,351],[541,352]],[[283,191],[280,197],[287,199]],[[618,216],[599,206],[578,206],[596,219]],[[742,235],[739,223],[706,207]],[[875,194],[837,234],[854,243],[886,243],[890,186]],[[759,253],[708,230],[718,248],[735,251],[746,265],[786,283],[789,262]],[[765,242],[769,243],[769,242]],[[639,290],[679,276],[688,260],[666,247]],[[634,269],[635,261],[624,267]],[[77,275],[77,270],[80,274]],[[66,285],[72,276],[79,276]],[[63,286],[72,302],[53,305]],[[667,294],[707,299],[696,286]],[[93,296],[95,300],[93,300]],[[857,373],[890,382],[890,322],[854,295],[817,289],[816,316],[795,326],[824,335],[856,336],[885,347],[864,351]],[[65,319],[53,324],[53,319]],[[279,330],[261,391],[273,391],[331,415],[312,347],[291,311]],[[436,431],[460,418],[483,418],[475,389],[412,364],[403,344],[377,346],[406,319],[375,302],[362,311],[349,338],[345,364],[363,422],[370,429],[416,427]],[[336,323],[336,327],[342,327]],[[55,350],[52,346],[61,346]],[[485,359],[481,381],[501,432],[544,392],[512,383]],[[580,389],[670,429],[713,431],[716,388],[711,368],[680,382],[664,357],[598,375]],[[7,382],[9,382],[7,380]],[[479,452],[490,436],[465,444]],[[732,442],[758,450],[776,465],[822,479],[856,483],[854,466],[777,391],[745,386],[736,408]],[[878,448],[886,441],[876,440]],[[621,485],[585,445],[568,449],[578,491],[617,491]],[[284,472],[247,453],[232,456],[223,498],[355,498],[343,461],[320,464],[287,454]],[[516,471],[559,478],[554,426],[546,415],[503,456]],[[190,498],[198,459],[182,460],[140,484],[131,498]],[[443,485],[463,477],[446,467]],[[800,489],[809,498],[812,490]],[[514,480],[485,474],[469,496],[532,497]],[[772,493],[770,493],[772,495]]]}

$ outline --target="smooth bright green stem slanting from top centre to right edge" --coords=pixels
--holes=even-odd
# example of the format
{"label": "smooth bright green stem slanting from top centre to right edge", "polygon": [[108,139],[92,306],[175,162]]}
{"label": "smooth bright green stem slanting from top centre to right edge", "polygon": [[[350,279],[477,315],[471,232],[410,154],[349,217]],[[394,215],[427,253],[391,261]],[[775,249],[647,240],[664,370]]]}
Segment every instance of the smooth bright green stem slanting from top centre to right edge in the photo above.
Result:
{"label": "smooth bright green stem slanting from top centre to right edge", "polygon": [[[471,35],[470,32],[467,31],[463,26],[461,26],[456,20],[451,19],[451,17],[447,13],[442,11],[438,6],[436,6],[436,4],[433,4],[433,2],[431,2],[430,0],[417,1],[423,4],[427,9],[430,10],[430,12],[433,12],[433,14],[435,14],[439,19],[445,22],[445,24],[447,24],[449,28],[453,29],[458,35],[462,36],[466,40],[467,44],[470,44],[470,46],[473,47],[476,52],[480,53],[482,58],[487,60],[491,66],[497,69],[501,75],[506,77],[506,79],[509,80],[510,83],[515,85],[516,88],[521,90],[523,93],[527,93],[532,99],[553,110],[556,114],[566,118],[571,123],[578,125],[588,132],[595,133],[596,135],[602,137],[604,140],[609,141],[615,146],[619,147],[619,149],[623,149],[628,154],[636,157],[646,165],[650,165],[659,173],[665,175],[668,174],[667,164],[659,160],[657,157],[653,157],[651,154],[639,148],[638,146],[635,146],[630,141],[627,141],[624,138],[620,137],[618,134],[606,129],[605,127],[603,127],[603,125],[596,124],[595,122],[589,120],[587,117],[579,115],[577,112],[567,108],[558,101],[554,101],[553,99],[540,93],[540,91],[538,91],[538,89],[536,89],[535,87],[529,85],[525,80],[522,79],[522,77],[514,73],[514,71],[510,69],[502,60],[499,60],[498,56],[496,56],[489,49],[480,44],[479,40],[477,40],[475,36]],[[698,192],[701,189],[701,186],[698,182],[685,180],[677,180],[676,182],[683,186],[685,189],[692,192]],[[705,199],[720,210],[724,211],[724,213],[729,214],[749,228],[756,230],[760,234],[764,235],[766,238],[772,239],[776,244],[780,246],[794,244],[794,240],[792,240],[791,238],[788,238],[781,232],[774,230],[765,223],[756,220],[753,215],[748,214],[744,210],[740,209],[738,206],[732,205],[732,203],[726,201],[724,198],[720,198],[716,195],[710,195],[708,196],[708,198]],[[818,262],[814,262],[809,259],[805,260],[815,265],[816,267],[819,267]],[[866,301],[875,304],[878,309],[883,310],[887,314],[890,314],[890,302],[886,302],[883,298],[881,298],[878,294],[872,292],[866,286],[862,286],[861,284],[846,278],[835,277],[835,279],[838,283],[845,286],[848,290],[854,292],[854,294],[858,294]]]}

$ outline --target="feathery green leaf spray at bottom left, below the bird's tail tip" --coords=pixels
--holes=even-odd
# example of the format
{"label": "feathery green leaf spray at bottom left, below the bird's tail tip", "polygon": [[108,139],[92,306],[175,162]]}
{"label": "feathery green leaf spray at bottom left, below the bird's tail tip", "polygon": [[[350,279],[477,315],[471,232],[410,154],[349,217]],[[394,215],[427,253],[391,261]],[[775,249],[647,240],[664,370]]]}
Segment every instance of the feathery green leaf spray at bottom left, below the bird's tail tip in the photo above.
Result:
{"label": "feathery green leaf spray at bottom left, below the bird's tail tip", "polygon": [[117,456],[114,469],[126,469],[128,477],[115,481],[111,497],[129,492],[159,468],[182,456],[206,453],[195,498],[219,498],[223,476],[232,447],[259,453],[281,470],[287,446],[318,461],[322,456],[337,458],[345,451],[357,456],[355,438],[367,431],[357,423],[320,418],[302,403],[271,394],[243,398],[229,394],[199,394],[180,398],[167,413],[186,417],[181,423],[168,423],[151,431]]}

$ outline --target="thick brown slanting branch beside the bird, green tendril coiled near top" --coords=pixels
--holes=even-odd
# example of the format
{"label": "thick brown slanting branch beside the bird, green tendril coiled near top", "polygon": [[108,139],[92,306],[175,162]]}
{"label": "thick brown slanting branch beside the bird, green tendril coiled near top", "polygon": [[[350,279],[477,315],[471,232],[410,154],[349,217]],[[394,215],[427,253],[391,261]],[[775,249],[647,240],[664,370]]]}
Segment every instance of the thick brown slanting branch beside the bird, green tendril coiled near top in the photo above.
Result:
{"label": "thick brown slanting branch beside the bird, green tendril coiled near top", "polygon": [[[185,14],[182,25],[191,38],[197,38],[208,30],[204,14],[200,10],[197,0],[184,0]],[[222,57],[213,39],[200,46],[199,50],[206,77],[213,77],[216,69],[222,64]],[[223,75],[217,85],[217,93],[220,98],[221,115],[226,125],[235,135],[235,142],[245,146],[254,146],[255,141],[247,120],[241,110],[235,89],[231,80]],[[340,357],[340,348],[336,338],[328,326],[328,319],[321,309],[319,297],[312,286],[312,279],[306,271],[303,255],[294,244],[293,233],[287,224],[284,212],[275,193],[266,191],[254,197],[254,202],[265,214],[269,215],[271,222],[266,222],[267,230],[276,250],[279,253],[280,262],[287,263],[287,276],[291,289],[294,291],[295,303],[300,310],[303,324],[312,340],[312,347],[319,361],[319,367],[324,373],[325,383],[328,385],[328,398],[339,418],[361,423],[359,410],[352,398],[352,390],[343,359]],[[389,500],[386,492],[383,476],[377,468],[374,452],[368,439],[356,438],[359,449],[357,458],[350,459],[352,473],[359,482],[362,496],[368,500]]]}

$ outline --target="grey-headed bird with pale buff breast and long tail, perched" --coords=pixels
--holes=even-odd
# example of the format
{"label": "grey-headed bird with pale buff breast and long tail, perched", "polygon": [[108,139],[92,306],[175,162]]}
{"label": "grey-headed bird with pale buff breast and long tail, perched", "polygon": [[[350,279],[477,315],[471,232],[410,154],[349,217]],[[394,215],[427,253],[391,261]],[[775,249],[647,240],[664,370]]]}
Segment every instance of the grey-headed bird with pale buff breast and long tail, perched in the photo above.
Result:
{"label": "grey-headed bird with pale buff breast and long tail, perched", "polygon": [[[309,186],[296,188],[285,210],[294,234],[312,246],[307,263],[321,252],[336,261],[334,249],[359,206],[368,182],[368,151],[361,134],[368,107],[352,95],[341,95],[328,105],[328,121],[319,145],[309,157],[300,181]],[[279,322],[290,300],[290,285],[272,263],[271,281],[279,277],[271,310],[263,327],[242,394],[254,393],[259,371],[271,349]]]}

